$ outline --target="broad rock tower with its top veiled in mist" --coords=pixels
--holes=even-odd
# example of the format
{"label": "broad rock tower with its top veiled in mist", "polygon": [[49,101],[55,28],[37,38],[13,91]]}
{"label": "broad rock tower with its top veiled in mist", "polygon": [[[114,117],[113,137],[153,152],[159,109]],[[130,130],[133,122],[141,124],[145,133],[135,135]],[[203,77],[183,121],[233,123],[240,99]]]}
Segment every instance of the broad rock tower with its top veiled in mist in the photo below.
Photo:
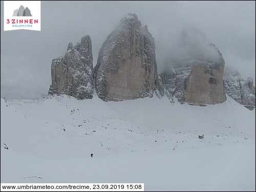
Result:
{"label": "broad rock tower with its top veiled in mist", "polygon": [[223,87],[224,59],[214,44],[193,41],[183,34],[176,55],[162,74],[165,93],[174,102],[194,105],[216,104],[226,100]]}

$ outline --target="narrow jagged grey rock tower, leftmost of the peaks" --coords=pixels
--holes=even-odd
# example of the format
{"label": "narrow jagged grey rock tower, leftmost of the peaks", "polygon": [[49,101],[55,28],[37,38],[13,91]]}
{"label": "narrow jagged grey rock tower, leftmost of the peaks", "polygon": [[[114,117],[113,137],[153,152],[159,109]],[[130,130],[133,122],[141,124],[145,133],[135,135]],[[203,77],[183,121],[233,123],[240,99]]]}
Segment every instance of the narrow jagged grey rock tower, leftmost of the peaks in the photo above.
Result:
{"label": "narrow jagged grey rock tower, leftmost of the peaks", "polygon": [[93,56],[89,35],[73,47],[69,43],[64,57],[52,60],[49,94],[66,94],[77,99],[93,97]]}

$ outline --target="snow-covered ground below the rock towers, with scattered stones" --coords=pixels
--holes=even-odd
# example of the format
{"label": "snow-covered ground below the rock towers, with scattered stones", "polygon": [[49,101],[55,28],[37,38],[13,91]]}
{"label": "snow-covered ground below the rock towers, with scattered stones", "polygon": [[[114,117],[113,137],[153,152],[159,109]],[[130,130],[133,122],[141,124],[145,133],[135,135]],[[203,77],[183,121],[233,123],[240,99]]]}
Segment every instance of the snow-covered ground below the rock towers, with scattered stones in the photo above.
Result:
{"label": "snow-covered ground below the rock towers, with scattered stones", "polygon": [[156,96],[1,98],[1,183],[255,191],[255,110],[230,97],[204,107]]}

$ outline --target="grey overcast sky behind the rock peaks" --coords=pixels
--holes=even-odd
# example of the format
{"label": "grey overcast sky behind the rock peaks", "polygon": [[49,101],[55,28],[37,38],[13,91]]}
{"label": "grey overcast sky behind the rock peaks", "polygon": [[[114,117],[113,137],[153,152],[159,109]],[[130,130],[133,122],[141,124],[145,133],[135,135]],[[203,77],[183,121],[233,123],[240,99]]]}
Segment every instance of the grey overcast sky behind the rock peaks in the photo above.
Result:
{"label": "grey overcast sky behind the rock peaks", "polygon": [[41,31],[4,31],[1,1],[1,97],[38,99],[51,84],[51,62],[90,35],[93,65],[106,37],[136,13],[155,37],[158,73],[181,31],[195,27],[255,86],[255,1],[41,1]]}

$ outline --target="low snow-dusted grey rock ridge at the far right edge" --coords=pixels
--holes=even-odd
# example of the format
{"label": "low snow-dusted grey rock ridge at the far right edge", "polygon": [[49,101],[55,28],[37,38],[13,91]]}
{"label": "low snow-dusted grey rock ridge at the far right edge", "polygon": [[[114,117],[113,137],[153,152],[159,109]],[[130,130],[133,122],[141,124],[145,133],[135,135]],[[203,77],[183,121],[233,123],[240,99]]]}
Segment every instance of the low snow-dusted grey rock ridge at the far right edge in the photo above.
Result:
{"label": "low snow-dusted grey rock ridge at the far right edge", "polygon": [[236,69],[226,68],[223,81],[228,96],[249,110],[255,108],[255,87],[252,78],[244,80]]}

